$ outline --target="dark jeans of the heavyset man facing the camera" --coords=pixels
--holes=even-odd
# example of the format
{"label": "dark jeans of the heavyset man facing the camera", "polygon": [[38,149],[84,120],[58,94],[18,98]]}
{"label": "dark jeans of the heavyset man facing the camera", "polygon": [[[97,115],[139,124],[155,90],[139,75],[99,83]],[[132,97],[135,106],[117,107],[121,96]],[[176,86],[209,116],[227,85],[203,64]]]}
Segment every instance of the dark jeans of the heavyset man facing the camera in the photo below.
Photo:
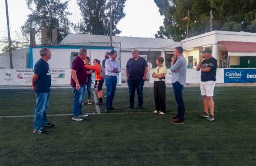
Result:
{"label": "dark jeans of the heavyset man facing the camera", "polygon": [[135,96],[135,90],[137,89],[138,94],[138,106],[143,106],[143,85],[144,81],[132,81],[127,80],[128,87],[129,87],[129,93],[130,93],[130,106],[134,106],[134,96]]}

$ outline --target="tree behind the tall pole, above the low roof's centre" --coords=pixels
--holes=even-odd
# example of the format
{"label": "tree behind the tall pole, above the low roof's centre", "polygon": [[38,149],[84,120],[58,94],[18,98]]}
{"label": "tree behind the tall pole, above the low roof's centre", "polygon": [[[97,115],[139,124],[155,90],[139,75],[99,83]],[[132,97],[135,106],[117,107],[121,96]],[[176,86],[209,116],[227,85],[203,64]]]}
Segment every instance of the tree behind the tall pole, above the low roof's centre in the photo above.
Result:
{"label": "tree behind the tall pole, above the low roof's centre", "polygon": [[[126,0],[112,0],[113,35],[121,33],[117,23],[123,13]],[[106,0],[77,0],[82,19],[75,25],[75,31],[84,34],[110,35],[110,3]]]}

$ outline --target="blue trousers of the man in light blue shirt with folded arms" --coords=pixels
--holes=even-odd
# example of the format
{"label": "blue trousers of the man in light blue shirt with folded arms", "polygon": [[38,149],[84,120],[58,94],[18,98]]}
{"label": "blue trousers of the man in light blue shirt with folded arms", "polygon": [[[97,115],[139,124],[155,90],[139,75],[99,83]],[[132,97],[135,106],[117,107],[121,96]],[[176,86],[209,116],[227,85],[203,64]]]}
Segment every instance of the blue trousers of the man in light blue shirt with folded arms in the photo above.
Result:
{"label": "blue trousers of the man in light blue shirt with folded arms", "polygon": [[106,81],[106,83],[105,83],[106,84],[105,107],[106,107],[106,109],[109,109],[110,107],[113,107],[113,99],[115,96],[117,79],[116,79],[116,76],[106,76],[105,81]]}

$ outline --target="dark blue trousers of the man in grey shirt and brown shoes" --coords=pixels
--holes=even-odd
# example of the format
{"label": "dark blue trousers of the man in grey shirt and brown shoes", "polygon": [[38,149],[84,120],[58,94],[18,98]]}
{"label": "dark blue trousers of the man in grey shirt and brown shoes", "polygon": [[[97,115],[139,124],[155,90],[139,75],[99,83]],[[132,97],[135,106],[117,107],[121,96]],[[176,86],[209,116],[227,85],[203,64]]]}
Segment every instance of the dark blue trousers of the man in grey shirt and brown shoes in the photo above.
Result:
{"label": "dark blue trousers of the man in grey shirt and brown shoes", "polygon": [[175,99],[178,104],[178,117],[181,121],[184,121],[184,114],[185,114],[185,105],[183,102],[182,98],[182,90],[183,90],[183,85],[181,85],[178,81],[173,83],[173,88],[174,88],[174,94],[175,94]]}

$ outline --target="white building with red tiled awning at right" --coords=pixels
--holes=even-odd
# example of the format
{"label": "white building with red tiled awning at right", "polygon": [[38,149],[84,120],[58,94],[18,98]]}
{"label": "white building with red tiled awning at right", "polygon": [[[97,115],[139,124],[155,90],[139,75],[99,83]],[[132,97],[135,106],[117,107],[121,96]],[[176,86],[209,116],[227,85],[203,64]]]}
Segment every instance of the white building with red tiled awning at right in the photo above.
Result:
{"label": "white building with red tiled awning at right", "polygon": [[256,67],[256,33],[212,31],[181,41],[187,63],[195,67],[204,47],[212,50],[219,68]]}

